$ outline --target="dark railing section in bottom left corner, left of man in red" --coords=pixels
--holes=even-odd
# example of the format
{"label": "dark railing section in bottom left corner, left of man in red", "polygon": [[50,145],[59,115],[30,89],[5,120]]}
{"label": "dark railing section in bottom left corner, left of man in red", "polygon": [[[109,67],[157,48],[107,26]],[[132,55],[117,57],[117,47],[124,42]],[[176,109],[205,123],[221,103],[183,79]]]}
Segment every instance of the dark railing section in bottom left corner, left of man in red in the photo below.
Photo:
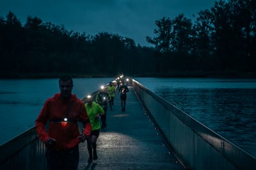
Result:
{"label": "dark railing section in bottom left corner, left of man in red", "polygon": [[46,169],[45,145],[35,127],[2,144],[0,151],[0,169]]}

